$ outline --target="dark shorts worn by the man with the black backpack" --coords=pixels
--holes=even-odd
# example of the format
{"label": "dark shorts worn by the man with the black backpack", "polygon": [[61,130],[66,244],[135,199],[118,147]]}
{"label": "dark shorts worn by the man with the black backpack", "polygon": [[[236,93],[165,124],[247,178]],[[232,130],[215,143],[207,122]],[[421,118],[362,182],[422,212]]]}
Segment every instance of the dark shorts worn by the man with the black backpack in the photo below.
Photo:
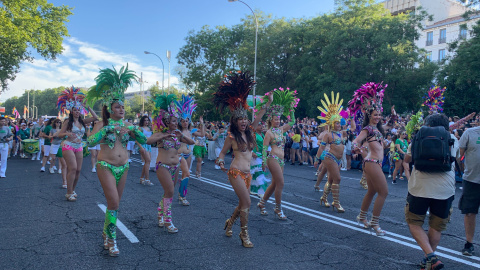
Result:
{"label": "dark shorts worn by the man with the black backpack", "polygon": [[415,197],[408,193],[405,205],[405,220],[408,224],[422,226],[427,210],[430,209],[428,225],[441,232],[447,228],[452,213],[452,203],[455,196],[446,200]]}

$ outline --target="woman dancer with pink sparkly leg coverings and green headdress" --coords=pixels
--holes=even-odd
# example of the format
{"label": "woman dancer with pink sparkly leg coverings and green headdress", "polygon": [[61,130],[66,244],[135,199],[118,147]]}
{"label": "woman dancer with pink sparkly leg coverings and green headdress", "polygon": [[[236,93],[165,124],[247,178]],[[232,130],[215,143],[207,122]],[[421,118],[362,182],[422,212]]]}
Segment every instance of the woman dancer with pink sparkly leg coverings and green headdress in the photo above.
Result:
{"label": "woman dancer with pink sparkly leg coverings and green headdress", "polygon": [[155,97],[158,116],[154,120],[154,134],[148,138],[147,144],[157,143],[157,177],[163,187],[163,197],[158,206],[158,226],[165,227],[169,233],[177,233],[178,228],[172,222],[172,201],[175,179],[182,157],[179,149],[182,143],[193,144],[194,141],[183,135],[178,127],[178,112],[174,105],[174,94]]}

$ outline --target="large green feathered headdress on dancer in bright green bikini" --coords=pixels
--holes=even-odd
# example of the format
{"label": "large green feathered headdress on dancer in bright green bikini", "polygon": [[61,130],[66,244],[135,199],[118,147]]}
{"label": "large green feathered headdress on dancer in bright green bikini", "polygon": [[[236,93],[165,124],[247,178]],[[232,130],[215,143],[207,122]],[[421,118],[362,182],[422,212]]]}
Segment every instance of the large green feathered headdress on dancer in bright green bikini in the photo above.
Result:
{"label": "large green feathered headdress on dancer in bright green bikini", "polygon": [[115,67],[113,69],[101,69],[100,74],[95,78],[97,85],[91,87],[87,93],[90,105],[101,99],[109,112],[112,111],[112,103],[114,102],[124,105],[124,93],[129,86],[132,86],[134,81],[137,81],[137,78],[134,71],[128,70],[128,63],[119,72]]}

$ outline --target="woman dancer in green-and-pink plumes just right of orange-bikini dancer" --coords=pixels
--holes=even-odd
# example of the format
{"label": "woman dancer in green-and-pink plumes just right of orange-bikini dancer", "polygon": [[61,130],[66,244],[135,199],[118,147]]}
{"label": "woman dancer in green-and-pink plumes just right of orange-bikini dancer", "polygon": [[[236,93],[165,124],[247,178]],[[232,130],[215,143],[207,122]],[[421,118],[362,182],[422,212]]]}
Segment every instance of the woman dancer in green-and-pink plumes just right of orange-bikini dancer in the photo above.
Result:
{"label": "woman dancer in green-and-pink plumes just right of orange-bikini dancer", "polygon": [[[275,193],[275,209],[273,212],[275,212],[277,218],[280,220],[287,220],[287,216],[285,216],[282,210],[282,191],[284,186],[283,169],[285,166],[284,133],[295,124],[295,108],[300,101],[295,97],[296,93],[297,91],[290,91],[289,88],[286,90],[283,88],[279,88],[279,90],[275,89],[267,93],[263,99],[264,101],[258,105],[261,108],[261,106],[273,100],[271,102],[273,105],[267,109],[268,130],[263,140],[262,149],[262,169],[265,170],[265,168],[268,167],[272,174],[272,183],[265,191],[257,207],[260,209],[261,215],[267,215],[265,203],[270,196]],[[280,127],[280,117],[282,115],[286,116],[289,122]],[[269,146],[272,150],[267,155],[267,148]],[[300,165],[302,165],[301,161]]]}

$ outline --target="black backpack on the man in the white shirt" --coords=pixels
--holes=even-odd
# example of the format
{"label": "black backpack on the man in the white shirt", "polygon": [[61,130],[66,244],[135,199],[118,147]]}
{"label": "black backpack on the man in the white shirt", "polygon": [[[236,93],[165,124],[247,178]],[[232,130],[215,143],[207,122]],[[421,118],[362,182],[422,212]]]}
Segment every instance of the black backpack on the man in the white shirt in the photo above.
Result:
{"label": "black backpack on the man in the white shirt", "polygon": [[422,127],[413,138],[412,158],[415,169],[423,172],[448,172],[455,160],[450,152],[454,140],[443,127]]}

